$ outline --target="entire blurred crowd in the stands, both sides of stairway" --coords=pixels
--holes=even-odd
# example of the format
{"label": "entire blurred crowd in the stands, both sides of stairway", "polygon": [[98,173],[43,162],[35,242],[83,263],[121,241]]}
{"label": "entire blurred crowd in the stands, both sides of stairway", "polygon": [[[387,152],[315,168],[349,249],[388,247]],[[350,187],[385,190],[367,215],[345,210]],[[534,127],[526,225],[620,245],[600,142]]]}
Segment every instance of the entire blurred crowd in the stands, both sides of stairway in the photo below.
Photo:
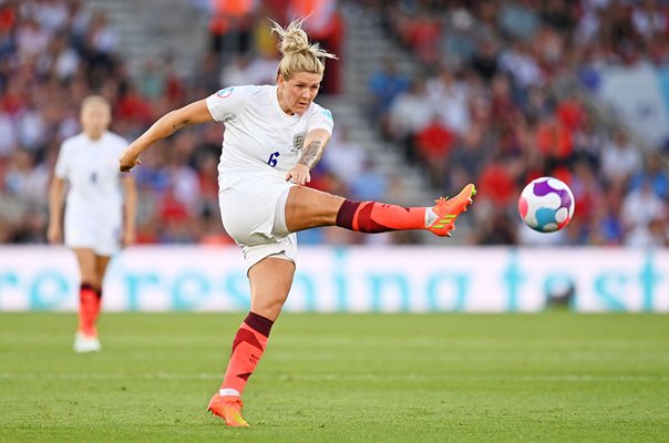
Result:
{"label": "entire blurred crowd in the stands, both sides of stairway", "polygon": [[[667,245],[669,175],[622,128],[599,123],[565,73],[597,63],[669,62],[662,1],[192,0],[210,18],[197,70],[177,74],[169,55],[131,75],[120,35],[83,0],[0,0],[0,244],[44,243],[47,194],[62,141],[79,132],[91,93],[114,105],[112,131],[133,140],[167,111],[239,83],[272,83],[276,42],[267,17],[311,17],[310,35],[343,54],[341,8],[367,11],[414,59],[369,79],[370,122],[402,146],[434,188],[474,182],[471,244]],[[203,31],[204,32],[204,31]],[[327,70],[323,94],[343,92],[346,60]],[[216,165],[220,125],[178,132],[148,150],[135,174],[138,241],[228,244]],[[336,153],[336,154],[332,154]],[[336,128],[312,186],[354,199],[391,200],[392,177]],[[556,235],[519,226],[516,197],[532,178],[567,182],[577,216]],[[395,189],[397,190],[397,189]],[[423,204],[416,203],[416,205]],[[411,243],[410,234],[301,234],[302,243]]]}

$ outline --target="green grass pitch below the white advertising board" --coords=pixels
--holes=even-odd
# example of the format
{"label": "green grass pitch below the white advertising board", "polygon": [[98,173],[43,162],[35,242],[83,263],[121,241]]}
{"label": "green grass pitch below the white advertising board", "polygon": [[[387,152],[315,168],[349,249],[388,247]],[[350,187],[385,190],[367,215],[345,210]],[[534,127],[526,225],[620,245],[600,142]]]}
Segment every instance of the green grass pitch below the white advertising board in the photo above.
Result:
{"label": "green grass pitch below the white advertising board", "polygon": [[669,441],[669,316],[284,315],[227,429],[243,317],[0,313],[0,441]]}

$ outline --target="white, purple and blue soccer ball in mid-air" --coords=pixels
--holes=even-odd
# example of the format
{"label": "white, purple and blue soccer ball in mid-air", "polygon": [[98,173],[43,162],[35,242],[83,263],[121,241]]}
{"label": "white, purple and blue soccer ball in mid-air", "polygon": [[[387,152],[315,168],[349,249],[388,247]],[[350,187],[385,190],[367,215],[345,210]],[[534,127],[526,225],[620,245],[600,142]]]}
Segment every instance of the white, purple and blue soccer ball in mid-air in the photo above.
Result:
{"label": "white, purple and blue soccer ball in mid-air", "polygon": [[518,198],[518,213],[527,226],[539,233],[555,233],[574,216],[574,194],[562,181],[541,177],[525,186]]}

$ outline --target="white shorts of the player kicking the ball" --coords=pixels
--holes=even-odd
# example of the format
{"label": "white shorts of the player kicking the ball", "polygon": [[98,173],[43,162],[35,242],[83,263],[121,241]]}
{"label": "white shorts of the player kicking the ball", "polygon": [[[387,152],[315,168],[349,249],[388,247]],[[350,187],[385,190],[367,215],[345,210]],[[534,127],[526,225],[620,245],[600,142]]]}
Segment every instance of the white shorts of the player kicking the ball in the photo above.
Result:
{"label": "white shorts of the player kicking the ball", "polygon": [[297,235],[286,227],[286,200],[292,186],[255,182],[218,193],[223,226],[241,247],[247,271],[269,256],[297,259]]}

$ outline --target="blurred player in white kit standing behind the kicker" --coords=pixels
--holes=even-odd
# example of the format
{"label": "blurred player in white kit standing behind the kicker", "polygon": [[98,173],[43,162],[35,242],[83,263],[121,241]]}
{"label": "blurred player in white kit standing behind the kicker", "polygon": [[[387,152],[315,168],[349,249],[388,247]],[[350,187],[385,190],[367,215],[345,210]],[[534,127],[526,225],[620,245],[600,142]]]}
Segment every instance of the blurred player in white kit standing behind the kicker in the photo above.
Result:
{"label": "blurred player in white kit standing behind the kicker", "polygon": [[119,173],[119,155],[127,143],[107,131],[110,102],[99,95],[86,97],[80,117],[82,133],[63,142],[55,164],[49,189],[48,237],[51,244],[60,244],[64,234],[65,246],[76,256],[81,287],[74,350],[95,352],[101,349],[96,321],[104,274],[121,246],[135,239],[137,196],[134,178]]}

